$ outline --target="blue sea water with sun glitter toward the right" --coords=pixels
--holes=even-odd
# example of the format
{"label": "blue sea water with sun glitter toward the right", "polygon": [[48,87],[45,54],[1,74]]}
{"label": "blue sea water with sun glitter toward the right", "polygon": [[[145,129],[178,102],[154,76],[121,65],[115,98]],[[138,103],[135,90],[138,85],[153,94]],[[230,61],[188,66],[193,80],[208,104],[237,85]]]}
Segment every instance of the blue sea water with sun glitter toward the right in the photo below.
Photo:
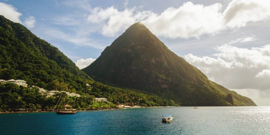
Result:
{"label": "blue sea water with sun glitter toward the right", "polygon": [[[163,114],[175,118],[161,123]],[[270,134],[270,107],[166,107],[0,114],[0,134]]]}

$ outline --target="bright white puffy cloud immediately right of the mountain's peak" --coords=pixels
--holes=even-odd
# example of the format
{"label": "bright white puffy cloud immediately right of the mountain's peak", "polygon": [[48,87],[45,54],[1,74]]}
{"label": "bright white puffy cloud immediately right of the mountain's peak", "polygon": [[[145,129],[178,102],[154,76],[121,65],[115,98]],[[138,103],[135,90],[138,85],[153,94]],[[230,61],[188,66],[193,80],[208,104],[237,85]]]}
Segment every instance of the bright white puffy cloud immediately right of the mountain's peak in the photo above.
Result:
{"label": "bright white puffy cloud immediately right of the mountain's peak", "polygon": [[179,8],[170,7],[160,15],[151,16],[142,22],[156,35],[167,38],[190,38],[216,33],[223,29],[222,5],[204,6],[184,3]]}

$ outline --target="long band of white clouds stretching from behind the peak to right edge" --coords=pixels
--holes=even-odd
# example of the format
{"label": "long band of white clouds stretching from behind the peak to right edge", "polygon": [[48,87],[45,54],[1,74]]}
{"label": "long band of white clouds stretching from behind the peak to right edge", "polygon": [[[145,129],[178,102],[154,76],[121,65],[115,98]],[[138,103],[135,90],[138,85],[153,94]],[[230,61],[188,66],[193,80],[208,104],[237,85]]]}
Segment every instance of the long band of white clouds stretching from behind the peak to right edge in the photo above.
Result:
{"label": "long band of white clouds stretching from behind the peak to right edge", "polygon": [[[123,11],[114,6],[106,9],[95,7],[88,15],[88,21],[99,24],[101,33],[109,37],[123,32],[134,22],[143,22],[155,35],[167,38],[199,38],[204,34],[243,27],[248,22],[269,19],[268,7],[268,0],[233,0],[224,12],[221,12],[220,3],[204,6],[186,2],[179,8],[169,7],[161,14],[136,7],[125,8]],[[252,39],[246,39],[249,40]]]}

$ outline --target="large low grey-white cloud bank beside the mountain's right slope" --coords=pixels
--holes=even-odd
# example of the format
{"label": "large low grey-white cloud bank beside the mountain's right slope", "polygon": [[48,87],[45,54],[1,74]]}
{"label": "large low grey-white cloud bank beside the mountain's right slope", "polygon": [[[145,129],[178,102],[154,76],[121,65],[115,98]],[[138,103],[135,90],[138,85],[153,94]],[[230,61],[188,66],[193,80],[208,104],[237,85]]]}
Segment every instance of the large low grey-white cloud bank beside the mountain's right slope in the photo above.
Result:
{"label": "large low grey-white cloud bank beside the mountain's right slope", "polygon": [[188,54],[185,59],[226,88],[256,89],[270,97],[270,45],[246,49],[225,44],[216,51],[216,58]]}

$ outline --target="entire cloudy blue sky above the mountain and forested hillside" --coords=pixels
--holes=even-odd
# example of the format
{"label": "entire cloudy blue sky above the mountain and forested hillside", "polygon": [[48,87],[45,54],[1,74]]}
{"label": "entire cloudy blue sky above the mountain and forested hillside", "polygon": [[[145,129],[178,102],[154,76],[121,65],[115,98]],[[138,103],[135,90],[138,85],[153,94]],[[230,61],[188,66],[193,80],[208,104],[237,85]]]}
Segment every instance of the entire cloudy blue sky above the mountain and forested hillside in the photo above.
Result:
{"label": "entire cloudy blue sky above the mountain and forested hillside", "polygon": [[209,79],[270,105],[268,0],[0,0],[19,22],[86,67],[142,22]]}

